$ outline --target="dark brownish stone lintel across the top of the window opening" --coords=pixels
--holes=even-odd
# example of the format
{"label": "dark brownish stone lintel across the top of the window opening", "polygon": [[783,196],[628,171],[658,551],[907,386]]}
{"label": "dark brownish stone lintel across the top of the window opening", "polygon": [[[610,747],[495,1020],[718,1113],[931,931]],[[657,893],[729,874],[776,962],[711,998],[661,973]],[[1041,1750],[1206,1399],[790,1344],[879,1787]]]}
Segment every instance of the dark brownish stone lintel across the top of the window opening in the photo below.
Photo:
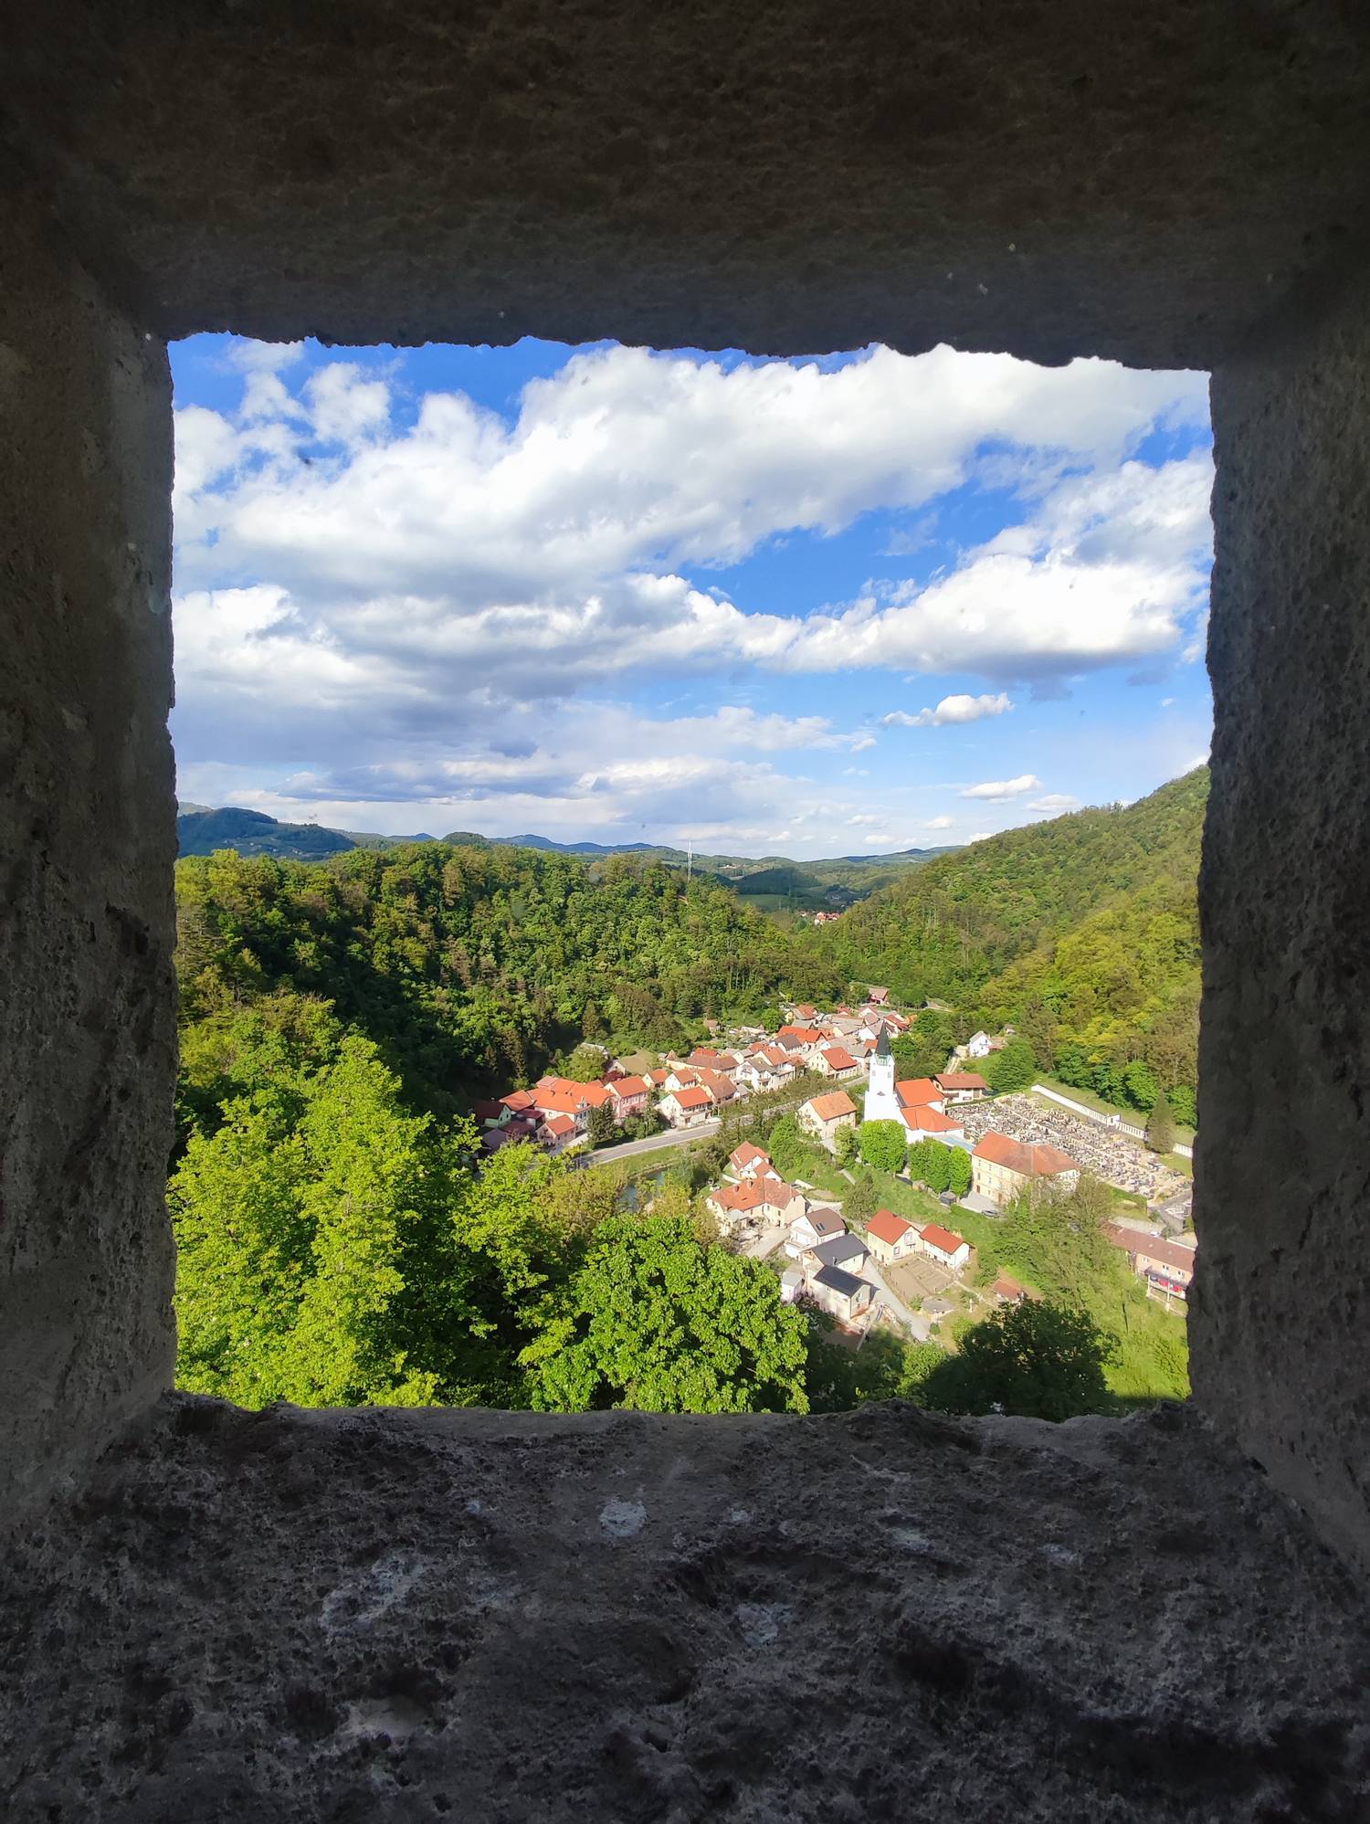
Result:
{"label": "dark brownish stone lintel across the top of the window opening", "polygon": [[164,334],[1211,367],[1359,259],[1344,0],[49,0],[0,130]]}

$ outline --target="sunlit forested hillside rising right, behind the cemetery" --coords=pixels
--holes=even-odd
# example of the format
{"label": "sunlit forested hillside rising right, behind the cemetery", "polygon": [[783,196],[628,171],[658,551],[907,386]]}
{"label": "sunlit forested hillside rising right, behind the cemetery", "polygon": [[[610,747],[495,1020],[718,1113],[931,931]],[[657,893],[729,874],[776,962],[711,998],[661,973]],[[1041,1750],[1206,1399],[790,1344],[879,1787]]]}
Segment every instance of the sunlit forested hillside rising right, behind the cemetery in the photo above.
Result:
{"label": "sunlit forested hillside rising right, behind the cemetery", "polygon": [[1193,1089],[1200,766],[1129,806],[1005,830],[814,934],[839,974],[1031,1027],[1038,1067],[1116,1091],[1131,1060]]}

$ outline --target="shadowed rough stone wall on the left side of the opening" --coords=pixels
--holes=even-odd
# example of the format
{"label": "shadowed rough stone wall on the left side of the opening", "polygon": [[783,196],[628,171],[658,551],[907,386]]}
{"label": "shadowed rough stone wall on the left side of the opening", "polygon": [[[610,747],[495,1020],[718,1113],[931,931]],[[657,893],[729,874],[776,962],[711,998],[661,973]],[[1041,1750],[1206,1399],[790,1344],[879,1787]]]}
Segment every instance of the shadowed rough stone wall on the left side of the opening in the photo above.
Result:
{"label": "shadowed rough stone wall on the left side of the opening", "polygon": [[0,233],[0,1525],[171,1379],[166,350]]}

